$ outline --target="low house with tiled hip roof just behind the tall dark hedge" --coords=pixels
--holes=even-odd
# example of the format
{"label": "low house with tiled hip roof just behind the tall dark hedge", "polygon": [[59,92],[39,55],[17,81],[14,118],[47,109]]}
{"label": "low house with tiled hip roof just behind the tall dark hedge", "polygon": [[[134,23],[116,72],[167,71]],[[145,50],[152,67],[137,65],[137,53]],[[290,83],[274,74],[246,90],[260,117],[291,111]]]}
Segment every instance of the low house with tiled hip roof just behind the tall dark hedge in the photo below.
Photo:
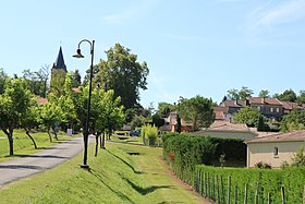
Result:
{"label": "low house with tiled hip roof just behind the tall dark hedge", "polygon": [[193,132],[194,135],[208,135],[221,139],[254,140],[257,133],[251,131],[246,124],[237,124],[228,121],[215,121],[209,128]]}

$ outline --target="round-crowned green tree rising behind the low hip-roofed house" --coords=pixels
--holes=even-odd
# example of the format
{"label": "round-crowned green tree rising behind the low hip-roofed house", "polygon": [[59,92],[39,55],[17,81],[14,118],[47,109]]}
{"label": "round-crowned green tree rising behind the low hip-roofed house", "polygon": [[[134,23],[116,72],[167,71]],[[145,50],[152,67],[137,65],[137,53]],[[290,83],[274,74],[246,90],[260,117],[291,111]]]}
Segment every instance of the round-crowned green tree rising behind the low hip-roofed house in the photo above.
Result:
{"label": "round-crowned green tree rising behind the low hip-roofed house", "polygon": [[208,128],[215,120],[212,100],[199,95],[186,99],[182,98],[178,106],[179,116],[186,122],[192,123],[193,131],[199,128]]}

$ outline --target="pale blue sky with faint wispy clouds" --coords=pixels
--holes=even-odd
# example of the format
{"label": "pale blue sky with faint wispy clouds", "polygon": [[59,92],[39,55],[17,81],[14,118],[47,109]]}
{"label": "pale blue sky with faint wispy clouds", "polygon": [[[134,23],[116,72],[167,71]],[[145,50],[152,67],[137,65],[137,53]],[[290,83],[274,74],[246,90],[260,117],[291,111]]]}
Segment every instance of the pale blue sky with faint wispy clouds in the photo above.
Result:
{"label": "pale blue sky with faint wispy clouds", "polygon": [[69,71],[82,39],[95,59],[119,43],[149,68],[141,104],[196,95],[221,101],[246,86],[270,94],[305,89],[305,0],[10,0],[0,2],[0,68],[9,75],[52,65],[59,47]]}

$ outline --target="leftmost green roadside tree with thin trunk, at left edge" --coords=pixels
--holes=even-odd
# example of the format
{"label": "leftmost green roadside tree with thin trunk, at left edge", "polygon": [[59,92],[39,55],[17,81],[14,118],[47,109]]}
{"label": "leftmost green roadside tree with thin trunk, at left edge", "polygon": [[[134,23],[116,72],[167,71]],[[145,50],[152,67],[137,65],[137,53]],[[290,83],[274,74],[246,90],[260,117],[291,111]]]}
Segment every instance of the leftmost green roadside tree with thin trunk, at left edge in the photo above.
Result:
{"label": "leftmost green roadside tree with thin trunk, at left edge", "polygon": [[4,93],[0,95],[0,127],[9,139],[10,155],[14,155],[14,129],[21,125],[30,105],[32,95],[23,79],[7,79]]}

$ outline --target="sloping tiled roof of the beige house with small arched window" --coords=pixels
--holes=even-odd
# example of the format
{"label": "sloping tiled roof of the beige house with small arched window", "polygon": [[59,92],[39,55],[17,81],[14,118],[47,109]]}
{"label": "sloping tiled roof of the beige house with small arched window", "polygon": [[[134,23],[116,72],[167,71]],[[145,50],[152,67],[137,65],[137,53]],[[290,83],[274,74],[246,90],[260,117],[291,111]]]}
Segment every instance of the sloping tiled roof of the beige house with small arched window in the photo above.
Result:
{"label": "sloping tiled roof of the beige house with small arched window", "polygon": [[257,137],[247,143],[265,143],[265,142],[283,142],[283,141],[305,141],[305,131],[293,131],[288,133],[279,133],[270,136]]}

